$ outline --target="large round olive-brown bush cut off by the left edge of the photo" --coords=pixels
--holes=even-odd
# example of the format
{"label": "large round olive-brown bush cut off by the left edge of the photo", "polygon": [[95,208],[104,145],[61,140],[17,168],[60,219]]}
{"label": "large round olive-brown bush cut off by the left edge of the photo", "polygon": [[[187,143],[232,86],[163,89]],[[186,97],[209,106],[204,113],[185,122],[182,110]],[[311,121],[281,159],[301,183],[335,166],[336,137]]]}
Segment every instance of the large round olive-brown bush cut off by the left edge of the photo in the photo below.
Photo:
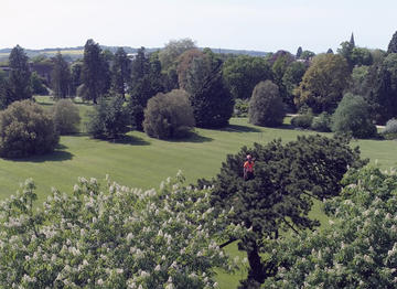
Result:
{"label": "large round olive-brown bush cut off by the left edge of the photo", "polygon": [[0,156],[43,154],[60,141],[52,116],[31,100],[14,101],[0,113]]}

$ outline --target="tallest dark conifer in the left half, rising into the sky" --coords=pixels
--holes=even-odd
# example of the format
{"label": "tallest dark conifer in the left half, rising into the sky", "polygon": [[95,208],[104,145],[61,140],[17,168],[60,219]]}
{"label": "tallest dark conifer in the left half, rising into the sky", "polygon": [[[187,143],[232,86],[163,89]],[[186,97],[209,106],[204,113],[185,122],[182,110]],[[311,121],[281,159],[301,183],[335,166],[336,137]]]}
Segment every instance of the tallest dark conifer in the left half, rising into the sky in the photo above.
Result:
{"label": "tallest dark conifer in the left half, rising into the sky", "polygon": [[109,65],[101,49],[94,40],[87,40],[84,46],[83,84],[87,100],[97,104],[97,99],[109,88]]}

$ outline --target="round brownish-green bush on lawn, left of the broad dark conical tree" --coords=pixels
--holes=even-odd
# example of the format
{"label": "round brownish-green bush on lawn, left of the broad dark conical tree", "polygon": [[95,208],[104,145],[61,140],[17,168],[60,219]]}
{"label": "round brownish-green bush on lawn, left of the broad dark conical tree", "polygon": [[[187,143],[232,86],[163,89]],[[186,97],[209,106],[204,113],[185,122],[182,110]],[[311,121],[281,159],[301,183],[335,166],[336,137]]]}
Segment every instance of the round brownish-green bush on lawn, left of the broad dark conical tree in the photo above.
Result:
{"label": "round brownish-green bush on lawn, left of the broad dark conical tree", "polygon": [[193,108],[184,90],[159,93],[149,99],[143,121],[148,136],[159,139],[178,138],[185,136],[193,127]]}

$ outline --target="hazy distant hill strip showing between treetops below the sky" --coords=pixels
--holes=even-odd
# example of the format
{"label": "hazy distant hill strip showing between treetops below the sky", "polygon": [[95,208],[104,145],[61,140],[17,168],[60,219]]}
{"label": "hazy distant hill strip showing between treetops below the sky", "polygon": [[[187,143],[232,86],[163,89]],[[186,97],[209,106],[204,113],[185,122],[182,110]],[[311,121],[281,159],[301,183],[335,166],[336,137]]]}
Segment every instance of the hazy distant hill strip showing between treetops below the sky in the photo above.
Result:
{"label": "hazy distant hill strip showing between treetops below the sky", "polygon": [[[117,51],[119,46],[100,46],[103,50],[109,50],[112,53]],[[126,53],[137,53],[138,49],[130,47],[130,46],[122,46]],[[0,62],[7,61],[12,49],[0,49]],[[151,47],[146,49],[147,52],[155,52],[161,50],[160,47]],[[244,54],[250,56],[266,56],[268,52],[261,51],[249,51],[249,50],[228,50],[228,49],[211,49],[215,53],[225,53],[225,54]],[[68,61],[73,62],[78,58],[83,57],[84,46],[76,46],[76,47],[56,47],[56,49],[43,49],[43,50],[24,50],[26,55],[32,58],[37,55],[45,55],[47,57],[54,56],[58,51],[67,57]]]}

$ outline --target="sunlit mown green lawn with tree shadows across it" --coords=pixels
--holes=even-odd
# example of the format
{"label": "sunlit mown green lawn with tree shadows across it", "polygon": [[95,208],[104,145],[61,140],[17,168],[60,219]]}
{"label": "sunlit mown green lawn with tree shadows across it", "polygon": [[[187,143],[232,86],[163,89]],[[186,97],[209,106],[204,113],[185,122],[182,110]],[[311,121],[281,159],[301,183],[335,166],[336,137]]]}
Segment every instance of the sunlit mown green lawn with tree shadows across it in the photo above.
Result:
{"label": "sunlit mown green lawn with tree shadows across it", "polygon": [[[49,98],[37,101],[50,107]],[[82,117],[92,107],[78,104]],[[82,125],[82,128],[84,126]],[[143,132],[132,131],[117,142],[94,140],[88,136],[66,136],[61,138],[58,149],[47,156],[20,160],[0,159],[0,199],[15,192],[18,184],[26,178],[33,178],[39,194],[39,202],[44,201],[51,188],[71,192],[78,176],[105,179],[106,174],[121,184],[136,188],[158,188],[168,176],[182,170],[187,182],[198,178],[215,175],[227,153],[237,152],[242,146],[254,142],[266,143],[275,138],[293,140],[298,135],[314,133],[288,129],[261,128],[247,124],[247,119],[233,118],[230,125],[222,130],[196,129],[185,140],[163,141],[151,139]],[[360,140],[363,157],[377,160],[387,169],[397,164],[397,142],[393,140]],[[313,215],[319,215],[315,207]],[[233,255],[240,255],[233,244],[227,248]],[[244,255],[242,255],[244,257]],[[229,276],[218,275],[221,288],[235,288],[245,271]]]}

